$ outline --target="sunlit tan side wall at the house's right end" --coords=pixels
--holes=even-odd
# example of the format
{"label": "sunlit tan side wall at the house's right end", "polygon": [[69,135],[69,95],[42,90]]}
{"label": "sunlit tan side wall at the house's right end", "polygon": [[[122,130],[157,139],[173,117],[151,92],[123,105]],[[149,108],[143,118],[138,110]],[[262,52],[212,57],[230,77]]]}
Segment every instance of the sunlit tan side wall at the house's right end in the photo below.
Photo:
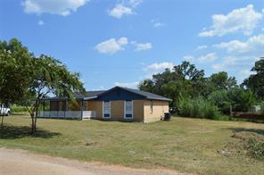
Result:
{"label": "sunlit tan side wall at the house's right end", "polygon": [[153,113],[151,113],[151,100],[144,100],[144,122],[160,121],[164,112],[169,112],[169,103],[153,100]]}

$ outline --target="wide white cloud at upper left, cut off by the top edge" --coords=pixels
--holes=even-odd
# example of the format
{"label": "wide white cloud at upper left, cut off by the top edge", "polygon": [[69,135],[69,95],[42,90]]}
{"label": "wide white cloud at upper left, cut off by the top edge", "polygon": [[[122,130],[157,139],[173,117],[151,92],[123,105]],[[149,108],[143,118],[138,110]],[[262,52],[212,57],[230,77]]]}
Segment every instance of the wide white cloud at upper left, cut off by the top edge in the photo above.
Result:
{"label": "wide white cloud at upper left, cut off by the top edge", "polygon": [[67,16],[77,11],[78,7],[89,0],[25,0],[22,2],[24,12],[27,13],[52,13]]}

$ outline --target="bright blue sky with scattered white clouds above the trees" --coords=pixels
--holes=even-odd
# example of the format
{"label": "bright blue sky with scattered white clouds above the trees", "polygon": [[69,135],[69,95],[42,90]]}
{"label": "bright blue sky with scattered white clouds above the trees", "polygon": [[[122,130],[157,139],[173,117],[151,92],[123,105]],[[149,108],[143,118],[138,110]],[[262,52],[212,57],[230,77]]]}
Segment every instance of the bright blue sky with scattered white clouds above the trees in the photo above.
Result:
{"label": "bright blue sky with scattered white clouds above the trees", "polygon": [[136,87],[185,60],[241,82],[264,56],[264,1],[1,0],[0,39],[12,37],[89,90]]}

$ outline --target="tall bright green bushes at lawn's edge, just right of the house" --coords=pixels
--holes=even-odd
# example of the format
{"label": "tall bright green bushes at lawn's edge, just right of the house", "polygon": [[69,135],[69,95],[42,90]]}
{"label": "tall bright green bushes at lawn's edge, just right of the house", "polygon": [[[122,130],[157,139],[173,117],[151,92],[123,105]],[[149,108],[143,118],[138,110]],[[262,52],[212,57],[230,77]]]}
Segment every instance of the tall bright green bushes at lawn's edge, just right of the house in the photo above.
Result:
{"label": "tall bright green bushes at lawn's edge, just right of the house", "polygon": [[202,97],[196,99],[180,97],[177,103],[177,112],[186,117],[227,120],[227,117],[221,115],[217,106]]}

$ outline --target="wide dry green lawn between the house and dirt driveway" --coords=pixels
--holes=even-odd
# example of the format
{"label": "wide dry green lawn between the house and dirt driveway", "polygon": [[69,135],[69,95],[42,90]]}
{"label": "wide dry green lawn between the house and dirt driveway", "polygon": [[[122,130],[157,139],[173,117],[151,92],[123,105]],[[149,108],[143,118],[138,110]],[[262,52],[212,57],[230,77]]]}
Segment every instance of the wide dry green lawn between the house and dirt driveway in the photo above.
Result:
{"label": "wide dry green lawn between the house and dirt driveway", "polygon": [[[165,167],[202,174],[261,174],[264,162],[243,150],[234,133],[264,137],[264,124],[173,117],[144,124],[118,121],[39,119],[29,136],[29,116],[4,119],[0,147],[136,168]],[[219,154],[227,150],[229,154]]]}

